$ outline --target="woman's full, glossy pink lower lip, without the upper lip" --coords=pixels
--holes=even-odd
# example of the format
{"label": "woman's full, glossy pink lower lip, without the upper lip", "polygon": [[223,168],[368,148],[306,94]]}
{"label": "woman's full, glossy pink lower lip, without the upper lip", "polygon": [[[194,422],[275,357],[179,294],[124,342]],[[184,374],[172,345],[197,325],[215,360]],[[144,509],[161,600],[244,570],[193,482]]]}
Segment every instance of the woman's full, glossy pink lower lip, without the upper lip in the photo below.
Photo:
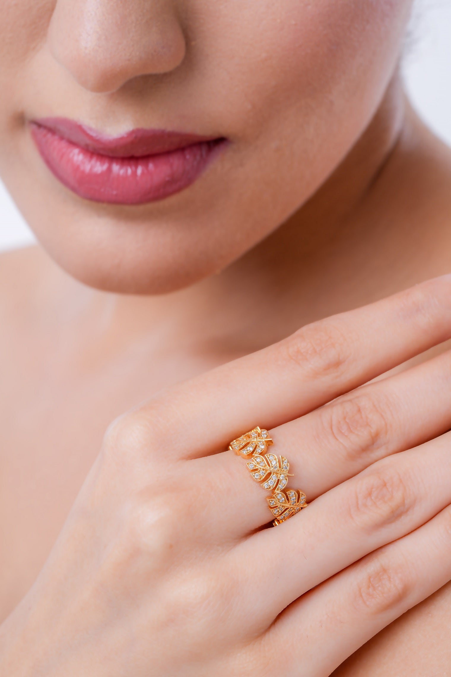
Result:
{"label": "woman's full, glossy pink lower lip, without the upper lip", "polygon": [[117,158],[91,152],[47,127],[31,133],[47,167],[81,198],[111,204],[145,204],[185,190],[206,170],[224,139],[144,157]]}

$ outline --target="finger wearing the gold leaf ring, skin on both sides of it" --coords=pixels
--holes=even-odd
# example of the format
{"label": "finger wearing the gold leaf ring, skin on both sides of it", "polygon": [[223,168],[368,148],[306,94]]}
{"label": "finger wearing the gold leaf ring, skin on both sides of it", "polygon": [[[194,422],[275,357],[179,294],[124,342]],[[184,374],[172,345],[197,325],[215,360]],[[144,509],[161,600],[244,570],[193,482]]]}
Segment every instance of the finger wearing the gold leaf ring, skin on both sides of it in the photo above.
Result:
{"label": "finger wearing the gold leaf ring, skin on both sides of it", "polygon": [[[275,444],[268,452],[289,460],[294,475],[289,486],[302,489],[310,501],[377,460],[446,432],[450,394],[448,352],[270,431]],[[184,463],[190,472],[206,477],[204,487],[210,484],[222,497],[216,501],[214,529],[224,537],[241,538],[268,523],[268,494],[252,479],[244,460],[229,452]],[[221,478],[219,486],[212,481],[215,477]]]}

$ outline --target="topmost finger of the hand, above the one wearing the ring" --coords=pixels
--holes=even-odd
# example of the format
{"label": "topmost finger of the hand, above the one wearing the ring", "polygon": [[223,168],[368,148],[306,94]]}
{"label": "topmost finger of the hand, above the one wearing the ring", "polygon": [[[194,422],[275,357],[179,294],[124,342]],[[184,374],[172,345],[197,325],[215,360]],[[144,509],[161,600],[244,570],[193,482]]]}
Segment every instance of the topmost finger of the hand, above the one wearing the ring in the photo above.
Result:
{"label": "topmost finger of the hand, above the one wearing the ring", "polygon": [[139,416],[164,454],[205,456],[256,424],[298,418],[450,336],[451,276],[444,276],[306,326],[160,394]]}

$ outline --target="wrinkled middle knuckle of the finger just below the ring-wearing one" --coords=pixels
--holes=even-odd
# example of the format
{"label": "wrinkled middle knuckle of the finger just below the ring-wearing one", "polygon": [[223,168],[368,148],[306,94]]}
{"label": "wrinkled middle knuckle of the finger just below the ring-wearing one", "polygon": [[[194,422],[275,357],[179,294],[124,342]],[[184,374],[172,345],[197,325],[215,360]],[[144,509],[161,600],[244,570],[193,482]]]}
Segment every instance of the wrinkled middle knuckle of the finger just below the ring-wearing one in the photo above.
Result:
{"label": "wrinkled middle knuckle of the finger just below the ring-wearing one", "polygon": [[364,531],[394,523],[412,504],[404,477],[388,464],[360,477],[348,500],[350,519]]}

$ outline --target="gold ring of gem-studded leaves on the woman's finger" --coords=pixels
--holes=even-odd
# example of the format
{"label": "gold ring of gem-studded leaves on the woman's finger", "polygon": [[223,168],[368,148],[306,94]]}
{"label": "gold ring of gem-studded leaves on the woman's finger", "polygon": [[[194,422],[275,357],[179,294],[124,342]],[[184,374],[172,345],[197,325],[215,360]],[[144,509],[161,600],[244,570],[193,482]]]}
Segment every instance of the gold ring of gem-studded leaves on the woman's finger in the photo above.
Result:
{"label": "gold ring of gem-studded leaves on the woman's finger", "polygon": [[267,430],[256,427],[249,433],[234,439],[230,443],[229,449],[238,456],[246,458],[247,469],[253,479],[263,489],[272,492],[272,496],[268,496],[266,500],[272,515],[277,516],[277,519],[272,522],[277,527],[300,510],[304,510],[308,503],[304,492],[285,489],[288,478],[293,477],[288,472],[289,462],[285,456],[278,457],[275,454],[264,454],[266,447],[273,443]]}

